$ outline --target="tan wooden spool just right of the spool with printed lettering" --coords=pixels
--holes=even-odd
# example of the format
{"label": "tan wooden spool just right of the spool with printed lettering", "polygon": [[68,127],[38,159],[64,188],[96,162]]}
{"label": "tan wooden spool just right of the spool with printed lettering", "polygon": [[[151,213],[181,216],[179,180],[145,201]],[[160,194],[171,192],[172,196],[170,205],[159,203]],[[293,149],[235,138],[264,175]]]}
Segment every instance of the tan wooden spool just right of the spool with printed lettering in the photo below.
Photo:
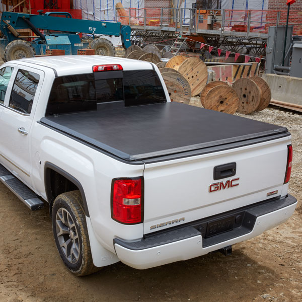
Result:
{"label": "tan wooden spool just right of the spool with printed lettering", "polygon": [[[167,65],[166,67],[168,67]],[[178,68],[178,71],[189,82],[192,96],[198,95],[205,87],[208,78],[208,73],[207,67],[201,59],[197,57],[191,57],[186,59],[181,63]]]}

